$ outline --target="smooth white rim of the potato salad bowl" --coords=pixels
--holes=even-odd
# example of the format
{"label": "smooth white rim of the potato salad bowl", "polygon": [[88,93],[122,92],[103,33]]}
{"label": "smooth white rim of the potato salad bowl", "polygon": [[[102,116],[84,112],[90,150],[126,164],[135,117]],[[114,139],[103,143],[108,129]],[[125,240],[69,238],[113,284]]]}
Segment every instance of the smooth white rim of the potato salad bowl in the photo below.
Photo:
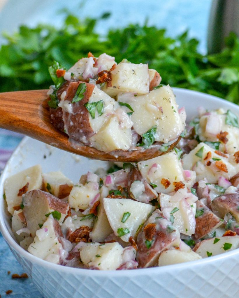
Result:
{"label": "smooth white rim of the potato salad bowl", "polygon": [[[223,103],[226,104],[227,107],[233,108],[233,111],[239,114],[239,107],[238,105],[235,105],[231,102],[225,101],[219,97],[215,97],[213,95],[201,93],[198,91],[193,91],[189,89],[183,89],[183,88],[173,88],[173,90],[177,93],[178,95],[184,95],[185,93],[189,93],[190,96],[197,96],[201,98],[207,98],[209,101],[218,104]],[[217,107],[217,105],[215,105]],[[5,174],[8,170],[9,164],[11,164],[12,159],[15,158],[15,155],[18,153],[18,151],[21,150],[21,147],[24,146],[25,142],[30,139],[29,137],[25,136],[22,141],[19,143],[18,147],[14,150],[12,156],[8,160],[3,172],[1,173],[0,176],[0,196],[3,194],[3,182],[5,179]],[[164,272],[168,271],[174,271],[174,270],[185,270],[189,269],[191,267],[195,266],[208,266],[211,263],[216,263],[219,260],[223,260],[225,258],[230,258],[232,256],[238,255],[239,256],[239,249],[232,250],[230,252],[225,252],[223,254],[218,254],[216,256],[212,256],[210,258],[205,258],[205,259],[200,259],[200,260],[195,260],[191,262],[186,262],[186,263],[179,263],[179,264],[172,264],[172,265],[167,265],[167,266],[161,266],[161,267],[151,267],[151,268],[139,268],[139,269],[134,269],[134,270],[109,270],[109,271],[100,271],[100,270],[89,270],[89,269],[82,269],[82,268],[73,268],[73,267],[67,267],[67,266],[61,266],[58,264],[53,264],[50,262],[47,262],[45,260],[42,260],[38,257],[35,257],[34,255],[30,254],[29,252],[25,251],[23,248],[21,248],[20,245],[13,239],[13,237],[10,235],[7,229],[7,225],[5,222],[5,215],[4,215],[4,200],[0,201],[0,231],[3,235],[3,238],[5,241],[8,243],[8,245],[16,250],[18,254],[26,259],[28,259],[31,263],[39,265],[41,267],[51,269],[51,270],[56,270],[56,271],[61,271],[65,273],[71,273],[71,274],[82,274],[84,276],[90,276],[90,277],[107,277],[107,276],[114,276],[114,277],[132,277],[132,276],[139,276],[142,274],[162,274]]]}

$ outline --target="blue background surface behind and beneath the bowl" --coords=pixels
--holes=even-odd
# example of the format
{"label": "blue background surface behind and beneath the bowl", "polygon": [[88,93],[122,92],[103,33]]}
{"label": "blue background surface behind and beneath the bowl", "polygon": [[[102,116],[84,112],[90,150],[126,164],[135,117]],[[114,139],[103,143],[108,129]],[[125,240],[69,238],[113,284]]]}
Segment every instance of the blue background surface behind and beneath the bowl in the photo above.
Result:
{"label": "blue background surface behind and beneath the bowl", "polygon": [[[122,27],[130,23],[143,24],[148,18],[149,25],[166,28],[174,37],[186,29],[190,37],[200,40],[200,51],[206,53],[206,34],[211,1],[201,0],[9,0],[0,12],[0,32],[14,32],[19,24],[35,26],[38,23],[51,23],[60,26],[64,15],[59,10],[65,8],[84,18],[98,17],[111,12],[111,17],[104,21],[104,26],[97,27],[101,34],[111,27]],[[0,44],[4,39],[0,37]],[[1,86],[0,86],[1,90]],[[22,136],[0,130],[0,170],[10,154],[20,142]],[[11,274],[22,274],[23,269],[13,257],[10,249],[0,234],[0,295],[1,297],[42,298],[32,280],[13,280]],[[6,295],[7,290],[13,293]]]}

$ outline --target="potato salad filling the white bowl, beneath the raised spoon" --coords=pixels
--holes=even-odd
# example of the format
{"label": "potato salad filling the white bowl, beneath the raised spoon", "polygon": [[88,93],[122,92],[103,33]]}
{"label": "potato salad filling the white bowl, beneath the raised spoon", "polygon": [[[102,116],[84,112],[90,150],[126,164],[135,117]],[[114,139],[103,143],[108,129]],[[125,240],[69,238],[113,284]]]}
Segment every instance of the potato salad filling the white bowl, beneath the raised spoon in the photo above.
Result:
{"label": "potato salad filling the white bowl, beneath the raised spoon", "polygon": [[[169,87],[156,90],[162,88]],[[74,182],[42,173],[40,165],[8,177],[4,199],[20,246],[52,263],[95,270],[164,266],[237,249],[238,117],[198,111],[178,146],[162,156],[111,164]]]}

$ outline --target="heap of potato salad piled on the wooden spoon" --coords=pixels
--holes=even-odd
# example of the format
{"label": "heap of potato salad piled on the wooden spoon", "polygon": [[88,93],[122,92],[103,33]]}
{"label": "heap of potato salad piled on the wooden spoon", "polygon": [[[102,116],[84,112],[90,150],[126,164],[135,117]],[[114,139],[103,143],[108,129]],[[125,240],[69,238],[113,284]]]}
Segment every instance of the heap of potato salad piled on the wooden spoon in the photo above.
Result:
{"label": "heap of potato salad piled on the wooden spoon", "polygon": [[114,155],[152,149],[159,155],[184,131],[184,108],[178,109],[172,89],[147,64],[117,64],[105,53],[89,53],[68,70],[54,62],[49,71],[51,122],[75,146]]}

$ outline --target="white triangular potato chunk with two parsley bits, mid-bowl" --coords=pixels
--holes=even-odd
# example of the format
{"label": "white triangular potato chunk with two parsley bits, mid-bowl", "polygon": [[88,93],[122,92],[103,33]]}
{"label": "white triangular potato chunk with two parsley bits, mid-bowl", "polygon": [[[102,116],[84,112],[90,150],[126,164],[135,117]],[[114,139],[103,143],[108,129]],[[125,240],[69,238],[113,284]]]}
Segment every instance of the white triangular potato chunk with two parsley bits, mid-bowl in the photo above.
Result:
{"label": "white triangular potato chunk with two parsley bits, mid-bowl", "polygon": [[154,207],[131,199],[104,198],[104,209],[116,236],[128,242],[147,220]]}

